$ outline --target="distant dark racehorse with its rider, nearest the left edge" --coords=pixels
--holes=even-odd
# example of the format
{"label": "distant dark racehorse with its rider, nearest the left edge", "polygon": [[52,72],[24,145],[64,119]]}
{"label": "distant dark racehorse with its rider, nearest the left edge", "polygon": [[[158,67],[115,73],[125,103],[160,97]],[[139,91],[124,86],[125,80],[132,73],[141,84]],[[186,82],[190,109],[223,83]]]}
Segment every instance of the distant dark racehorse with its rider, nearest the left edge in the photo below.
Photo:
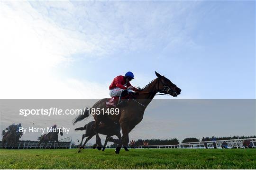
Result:
{"label": "distant dark racehorse with its rider, nearest the left edge", "polygon": [[7,145],[7,148],[12,146],[11,148],[15,147],[17,141],[22,136],[22,132],[16,133],[16,125],[11,126],[10,131],[5,132],[5,130],[2,131],[3,139],[2,139],[2,148],[5,148],[5,145]]}

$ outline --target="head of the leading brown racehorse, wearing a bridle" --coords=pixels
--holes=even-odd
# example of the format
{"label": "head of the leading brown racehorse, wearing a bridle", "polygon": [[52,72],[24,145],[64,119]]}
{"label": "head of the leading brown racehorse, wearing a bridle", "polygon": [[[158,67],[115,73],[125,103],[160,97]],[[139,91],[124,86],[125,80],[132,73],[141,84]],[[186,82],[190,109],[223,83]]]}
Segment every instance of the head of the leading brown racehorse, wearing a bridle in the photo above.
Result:
{"label": "head of the leading brown racehorse, wearing a bridle", "polygon": [[178,88],[172,81],[167,79],[165,76],[161,76],[159,73],[155,72],[155,75],[158,77],[156,90],[159,93],[169,94],[173,97],[177,97],[181,94],[181,89]]}

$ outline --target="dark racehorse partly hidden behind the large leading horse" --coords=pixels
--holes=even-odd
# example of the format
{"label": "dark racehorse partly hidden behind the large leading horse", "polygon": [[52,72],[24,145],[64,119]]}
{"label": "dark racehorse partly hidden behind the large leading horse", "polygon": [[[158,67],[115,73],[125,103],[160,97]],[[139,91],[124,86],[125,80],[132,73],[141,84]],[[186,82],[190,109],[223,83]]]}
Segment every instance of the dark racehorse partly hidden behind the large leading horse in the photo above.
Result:
{"label": "dark racehorse partly hidden behind the large leading horse", "polygon": [[[89,122],[87,125],[84,125],[84,127],[78,127],[78,128],[75,128],[75,131],[78,131],[78,130],[85,130],[85,134],[82,135],[82,141],[85,137],[86,140],[85,142],[83,143],[82,145],[82,141],[80,143],[80,147],[79,147],[79,151],[78,152],[81,152],[81,149],[84,148],[85,144],[95,135],[95,132],[93,131],[94,129],[94,124],[95,124],[95,121],[91,121]],[[121,141],[121,133],[120,133],[120,125],[119,124],[114,124],[112,126],[108,126],[106,124],[104,124],[103,122],[101,122],[100,124],[100,127],[99,127],[99,130],[98,132],[100,134],[104,134],[104,135],[107,135],[106,136],[106,140],[105,140],[105,143],[104,143],[104,146],[102,148],[102,151],[105,150],[106,148],[106,145],[107,143],[110,141],[110,142],[119,142]],[[114,139],[111,139],[110,137],[113,136],[113,135],[116,135],[118,138],[119,138],[119,141],[117,140],[114,140]]]}

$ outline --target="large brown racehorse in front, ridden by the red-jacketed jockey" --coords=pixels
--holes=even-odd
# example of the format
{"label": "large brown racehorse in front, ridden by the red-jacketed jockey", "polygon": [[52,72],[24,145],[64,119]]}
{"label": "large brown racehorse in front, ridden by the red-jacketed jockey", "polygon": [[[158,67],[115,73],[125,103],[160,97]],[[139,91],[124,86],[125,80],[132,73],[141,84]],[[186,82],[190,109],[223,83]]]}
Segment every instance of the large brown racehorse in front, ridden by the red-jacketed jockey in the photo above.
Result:
{"label": "large brown racehorse in front, ridden by the red-jacketed jockey", "polygon": [[[173,97],[177,97],[181,94],[181,89],[178,88],[174,83],[172,83],[165,76],[160,75],[155,72],[157,78],[151,81],[146,87],[140,90],[136,90],[135,94],[132,94],[132,98],[129,99],[128,103],[119,108],[119,114],[107,114],[106,112],[100,112],[99,114],[93,114],[95,119],[94,132],[96,135],[96,143],[99,148],[102,147],[101,138],[99,136],[99,125],[100,122],[106,124],[119,123],[122,129],[122,142],[119,143],[115,152],[119,154],[121,146],[125,149],[128,147],[129,143],[129,133],[131,130],[141,122],[146,107],[155,97],[156,93],[168,94]],[[106,102],[109,98],[103,98],[96,102],[91,108],[100,110],[107,110]],[[81,121],[82,119],[88,117],[91,113],[90,110],[84,110],[84,113],[77,116],[73,123]]]}

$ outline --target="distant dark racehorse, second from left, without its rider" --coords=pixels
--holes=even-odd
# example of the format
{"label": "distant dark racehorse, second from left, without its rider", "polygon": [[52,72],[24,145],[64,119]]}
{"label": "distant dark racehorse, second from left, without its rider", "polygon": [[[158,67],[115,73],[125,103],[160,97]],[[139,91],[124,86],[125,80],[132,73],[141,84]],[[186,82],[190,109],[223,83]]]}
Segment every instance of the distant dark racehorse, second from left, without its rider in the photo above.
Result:
{"label": "distant dark racehorse, second from left, without its rider", "polygon": [[40,148],[41,143],[45,143],[44,146],[43,146],[43,148],[45,149],[47,143],[49,143],[49,142],[54,142],[55,143],[55,141],[57,142],[58,147],[60,147],[60,143],[58,141],[58,134],[63,135],[63,132],[60,131],[60,128],[57,128],[56,132],[49,132],[47,135],[43,134],[43,135],[39,136],[37,138],[37,140],[39,140],[38,147]]}

